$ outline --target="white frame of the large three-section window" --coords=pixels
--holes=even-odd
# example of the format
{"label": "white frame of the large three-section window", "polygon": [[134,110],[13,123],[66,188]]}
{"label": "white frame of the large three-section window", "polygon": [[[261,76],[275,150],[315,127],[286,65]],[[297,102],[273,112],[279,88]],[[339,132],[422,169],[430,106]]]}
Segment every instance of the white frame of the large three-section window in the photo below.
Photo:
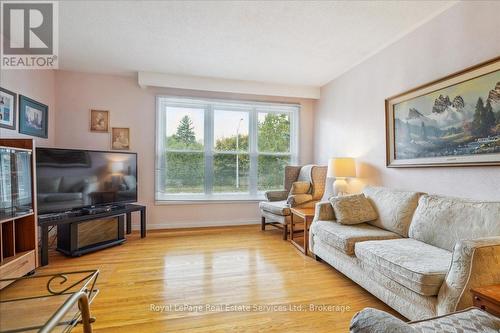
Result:
{"label": "white frame of the large three-section window", "polygon": [[[166,177],[165,146],[166,137],[166,107],[183,106],[200,108],[204,112],[204,140],[203,152],[205,156],[205,178],[204,193],[160,193],[158,189],[163,184]],[[217,110],[248,112],[249,119],[249,148],[248,152],[236,151],[216,151],[214,149],[214,106]],[[259,113],[288,113],[290,115],[290,152],[271,153],[258,151],[258,114]],[[258,177],[258,157],[265,156],[288,156],[290,164],[298,163],[299,156],[299,119],[300,104],[285,103],[263,103],[253,101],[230,101],[219,99],[201,99],[176,96],[156,96],[156,162],[155,162],[155,202],[156,204],[169,203],[199,203],[214,201],[259,201],[264,198],[264,191],[257,190]],[[195,150],[172,150],[176,152],[197,152]],[[250,157],[249,170],[249,192],[247,193],[213,193],[213,157],[216,153],[224,154],[248,154]]]}

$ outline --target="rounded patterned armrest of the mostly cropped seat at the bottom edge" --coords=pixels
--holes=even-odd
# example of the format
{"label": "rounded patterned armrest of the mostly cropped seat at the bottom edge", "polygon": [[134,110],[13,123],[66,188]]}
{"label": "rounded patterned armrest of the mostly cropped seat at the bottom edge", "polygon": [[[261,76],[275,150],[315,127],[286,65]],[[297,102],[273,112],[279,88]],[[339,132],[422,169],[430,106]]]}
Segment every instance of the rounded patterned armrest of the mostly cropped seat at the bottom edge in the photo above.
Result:
{"label": "rounded patterned armrest of the mostly cropped seat at the bottom edge", "polygon": [[377,309],[366,308],[354,315],[349,326],[351,333],[417,333],[399,318]]}

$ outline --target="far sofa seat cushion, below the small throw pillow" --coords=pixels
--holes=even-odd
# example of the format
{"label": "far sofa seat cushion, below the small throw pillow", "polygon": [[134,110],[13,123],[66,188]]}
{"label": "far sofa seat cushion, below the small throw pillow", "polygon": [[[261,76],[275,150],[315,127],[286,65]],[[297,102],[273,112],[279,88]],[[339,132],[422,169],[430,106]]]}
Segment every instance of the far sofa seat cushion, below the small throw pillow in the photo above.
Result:
{"label": "far sofa seat cushion, below the small throw pillow", "polygon": [[315,221],[311,225],[311,230],[322,242],[350,256],[354,255],[355,245],[359,242],[400,237],[398,234],[366,223],[346,225],[333,221]]}

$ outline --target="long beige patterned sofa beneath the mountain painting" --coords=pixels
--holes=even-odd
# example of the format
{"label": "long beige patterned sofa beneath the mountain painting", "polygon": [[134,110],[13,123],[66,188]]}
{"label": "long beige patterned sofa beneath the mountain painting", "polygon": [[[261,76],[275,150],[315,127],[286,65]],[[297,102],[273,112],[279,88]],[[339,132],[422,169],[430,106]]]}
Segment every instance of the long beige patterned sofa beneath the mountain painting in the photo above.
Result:
{"label": "long beige patterned sofa beneath the mountain painting", "polygon": [[470,288],[500,283],[500,202],[367,187],[378,219],[335,221],[316,205],[309,248],[411,320],[472,305]]}

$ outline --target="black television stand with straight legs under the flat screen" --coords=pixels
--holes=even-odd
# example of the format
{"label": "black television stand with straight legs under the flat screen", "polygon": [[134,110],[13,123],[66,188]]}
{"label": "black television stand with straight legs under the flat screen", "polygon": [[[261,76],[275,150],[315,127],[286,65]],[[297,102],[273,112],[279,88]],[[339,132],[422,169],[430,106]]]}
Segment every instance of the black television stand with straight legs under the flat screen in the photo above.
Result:
{"label": "black television stand with straight legs under the flat screen", "polygon": [[[106,212],[102,213],[97,213],[97,214],[92,214],[92,215],[78,215],[78,216],[68,216],[62,219],[55,219],[55,220],[39,220],[38,221],[38,226],[41,229],[41,255],[40,255],[40,261],[41,261],[41,266],[45,266],[49,263],[49,228],[52,226],[61,226],[61,229],[64,228],[71,228],[71,224],[81,224],[81,223],[92,223],[93,220],[99,220],[103,218],[109,218],[109,217],[117,217],[121,221],[118,221],[118,223],[123,224],[123,215],[126,216],[125,219],[125,230],[127,234],[130,234],[132,231],[132,213],[133,212],[140,212],[141,214],[141,238],[146,237],[146,206],[143,205],[136,205],[136,204],[127,204],[119,208],[111,209]],[[75,228],[73,227],[73,233],[75,233]],[[74,234],[72,236],[75,236]],[[79,250],[79,252],[75,252],[76,255],[82,255],[85,253],[88,253],[93,250],[98,250],[102,249],[105,247],[113,246],[116,244],[123,243],[124,237],[123,234],[121,235],[122,240],[120,240],[120,235],[118,235],[116,240],[113,240],[111,242],[106,242],[102,244],[94,244],[95,247],[87,247],[87,248],[82,248]],[[72,237],[73,241],[77,237]],[[72,248],[75,248],[73,244]],[[71,244],[69,245],[71,247]],[[60,246],[58,246],[61,248]],[[64,252],[64,251],[61,251]],[[73,255],[73,254],[70,254]]]}

